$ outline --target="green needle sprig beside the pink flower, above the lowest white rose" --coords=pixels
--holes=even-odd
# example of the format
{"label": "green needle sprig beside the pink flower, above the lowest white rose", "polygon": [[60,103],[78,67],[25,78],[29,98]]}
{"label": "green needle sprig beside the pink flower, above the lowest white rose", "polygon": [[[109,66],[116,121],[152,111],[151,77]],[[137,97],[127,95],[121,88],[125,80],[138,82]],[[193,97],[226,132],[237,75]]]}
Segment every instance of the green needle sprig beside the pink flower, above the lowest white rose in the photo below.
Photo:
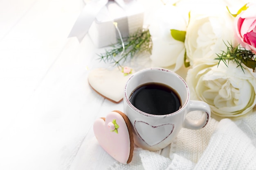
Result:
{"label": "green needle sprig beside the pink flower, above the lowest white rose", "polygon": [[224,42],[224,44],[227,46],[227,50],[217,54],[218,58],[215,58],[216,60],[219,60],[218,65],[220,64],[220,61],[222,61],[228,67],[229,61],[233,61],[237,64],[237,67],[240,67],[243,70],[243,72],[245,72],[245,67],[243,67],[242,63],[253,70],[256,68],[256,56],[252,50],[245,50],[245,48],[240,47],[240,44],[236,47],[233,47],[232,43],[229,42],[228,44]]}

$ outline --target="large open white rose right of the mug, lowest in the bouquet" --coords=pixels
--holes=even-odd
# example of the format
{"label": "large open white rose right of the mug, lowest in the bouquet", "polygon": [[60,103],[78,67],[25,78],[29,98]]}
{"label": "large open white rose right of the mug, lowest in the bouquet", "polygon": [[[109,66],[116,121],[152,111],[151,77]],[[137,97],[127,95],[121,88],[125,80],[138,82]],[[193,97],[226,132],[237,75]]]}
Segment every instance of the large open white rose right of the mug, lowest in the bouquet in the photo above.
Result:
{"label": "large open white rose right of the mug, lowest in the bouquet", "polygon": [[213,114],[236,117],[252,112],[256,104],[255,73],[250,68],[243,70],[232,61],[227,67],[222,61],[218,65],[218,61],[202,59],[189,69],[186,81]]}

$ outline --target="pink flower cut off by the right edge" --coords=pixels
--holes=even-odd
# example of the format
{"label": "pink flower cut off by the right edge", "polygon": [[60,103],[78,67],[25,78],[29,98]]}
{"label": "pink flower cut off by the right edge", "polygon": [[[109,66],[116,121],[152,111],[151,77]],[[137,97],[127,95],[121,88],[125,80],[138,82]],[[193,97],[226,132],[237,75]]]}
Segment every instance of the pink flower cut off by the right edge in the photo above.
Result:
{"label": "pink flower cut off by the right edge", "polygon": [[236,16],[235,37],[241,46],[256,54],[256,4],[248,4],[248,8]]}

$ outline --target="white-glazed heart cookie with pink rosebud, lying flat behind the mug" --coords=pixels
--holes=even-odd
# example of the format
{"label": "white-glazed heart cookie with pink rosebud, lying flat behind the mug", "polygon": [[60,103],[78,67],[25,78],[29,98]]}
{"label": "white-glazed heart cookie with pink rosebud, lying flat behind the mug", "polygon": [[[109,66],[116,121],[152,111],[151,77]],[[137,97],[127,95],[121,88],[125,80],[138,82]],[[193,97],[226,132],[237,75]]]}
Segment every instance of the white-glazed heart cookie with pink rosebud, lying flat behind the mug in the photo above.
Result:
{"label": "white-glazed heart cookie with pink rosebud, lying flat behind the mug", "polygon": [[122,70],[98,68],[88,75],[89,85],[104,98],[119,103],[123,100],[124,86],[134,71],[129,67]]}

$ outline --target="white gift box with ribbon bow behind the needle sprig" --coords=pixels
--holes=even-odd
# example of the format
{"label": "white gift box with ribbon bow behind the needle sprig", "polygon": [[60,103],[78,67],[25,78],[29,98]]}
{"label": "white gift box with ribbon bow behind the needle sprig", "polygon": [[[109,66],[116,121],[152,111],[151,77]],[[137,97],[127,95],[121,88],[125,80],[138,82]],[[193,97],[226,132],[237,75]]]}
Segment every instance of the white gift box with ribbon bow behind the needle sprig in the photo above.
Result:
{"label": "white gift box with ribbon bow behind the needle sprig", "polygon": [[130,0],[120,6],[115,1],[108,1],[92,22],[88,35],[97,48],[102,48],[117,43],[120,39],[118,29],[122,38],[128,37],[141,29],[143,22],[144,9],[139,2]]}

